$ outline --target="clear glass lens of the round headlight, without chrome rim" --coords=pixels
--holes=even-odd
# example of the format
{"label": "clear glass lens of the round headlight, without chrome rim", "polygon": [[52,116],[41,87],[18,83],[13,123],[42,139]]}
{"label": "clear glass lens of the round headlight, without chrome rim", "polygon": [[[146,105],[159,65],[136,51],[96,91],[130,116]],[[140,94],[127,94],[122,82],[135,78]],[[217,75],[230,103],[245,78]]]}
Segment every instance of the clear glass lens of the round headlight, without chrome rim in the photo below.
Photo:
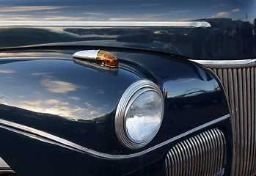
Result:
{"label": "clear glass lens of the round headlight, without chrome rim", "polygon": [[155,133],[161,123],[163,100],[154,91],[143,92],[128,107],[125,114],[126,131],[136,142],[143,142]]}

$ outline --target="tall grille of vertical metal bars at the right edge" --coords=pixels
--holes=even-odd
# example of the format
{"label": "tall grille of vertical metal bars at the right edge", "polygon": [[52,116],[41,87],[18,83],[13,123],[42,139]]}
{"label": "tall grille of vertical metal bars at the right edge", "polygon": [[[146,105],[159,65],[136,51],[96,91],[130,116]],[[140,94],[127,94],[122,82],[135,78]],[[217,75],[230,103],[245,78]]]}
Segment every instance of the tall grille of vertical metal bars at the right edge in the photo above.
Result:
{"label": "tall grille of vertical metal bars at the right edge", "polygon": [[256,67],[211,68],[219,76],[230,102],[235,153],[232,175],[256,172]]}

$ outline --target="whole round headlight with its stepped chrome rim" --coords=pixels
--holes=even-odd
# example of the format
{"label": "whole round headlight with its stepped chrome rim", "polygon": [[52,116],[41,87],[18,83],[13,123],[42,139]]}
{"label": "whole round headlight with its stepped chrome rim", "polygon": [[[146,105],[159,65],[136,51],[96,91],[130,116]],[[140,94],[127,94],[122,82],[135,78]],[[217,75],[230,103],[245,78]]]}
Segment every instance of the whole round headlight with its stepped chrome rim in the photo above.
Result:
{"label": "whole round headlight with its stepped chrome rim", "polygon": [[149,80],[136,81],[125,90],[117,105],[115,131],[119,141],[130,149],[148,144],[161,126],[164,98]]}

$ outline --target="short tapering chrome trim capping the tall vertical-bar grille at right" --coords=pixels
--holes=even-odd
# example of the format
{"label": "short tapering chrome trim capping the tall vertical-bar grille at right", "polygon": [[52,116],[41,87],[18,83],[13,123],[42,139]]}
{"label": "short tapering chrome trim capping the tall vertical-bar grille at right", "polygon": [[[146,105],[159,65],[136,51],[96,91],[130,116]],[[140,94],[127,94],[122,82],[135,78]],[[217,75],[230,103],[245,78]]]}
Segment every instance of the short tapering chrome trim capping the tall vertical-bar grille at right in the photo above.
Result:
{"label": "short tapering chrome trim capping the tall vertical-bar grille at right", "polygon": [[205,67],[211,68],[238,68],[238,67],[253,67],[256,66],[256,59],[244,59],[244,60],[195,60],[190,61],[197,62]]}

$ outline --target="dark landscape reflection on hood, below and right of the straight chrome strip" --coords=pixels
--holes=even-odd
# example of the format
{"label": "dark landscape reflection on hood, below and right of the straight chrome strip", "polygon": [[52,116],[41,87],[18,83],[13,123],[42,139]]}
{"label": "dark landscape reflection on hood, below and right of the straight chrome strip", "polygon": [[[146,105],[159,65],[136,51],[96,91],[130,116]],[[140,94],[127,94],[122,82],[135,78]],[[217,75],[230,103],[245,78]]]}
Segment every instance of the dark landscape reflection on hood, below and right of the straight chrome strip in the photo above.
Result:
{"label": "dark landscape reflection on hood, below and right of the straight chrome strip", "polygon": [[[1,48],[26,45],[84,45],[162,51],[191,59],[255,58],[253,25],[232,19],[204,19],[209,29],[175,27],[0,29]],[[222,25],[224,24],[224,25]],[[59,32],[61,30],[62,32]],[[17,33],[18,32],[18,33]],[[115,33],[116,32],[116,33]],[[68,43],[67,43],[68,42]],[[57,43],[57,44],[55,44]]]}

